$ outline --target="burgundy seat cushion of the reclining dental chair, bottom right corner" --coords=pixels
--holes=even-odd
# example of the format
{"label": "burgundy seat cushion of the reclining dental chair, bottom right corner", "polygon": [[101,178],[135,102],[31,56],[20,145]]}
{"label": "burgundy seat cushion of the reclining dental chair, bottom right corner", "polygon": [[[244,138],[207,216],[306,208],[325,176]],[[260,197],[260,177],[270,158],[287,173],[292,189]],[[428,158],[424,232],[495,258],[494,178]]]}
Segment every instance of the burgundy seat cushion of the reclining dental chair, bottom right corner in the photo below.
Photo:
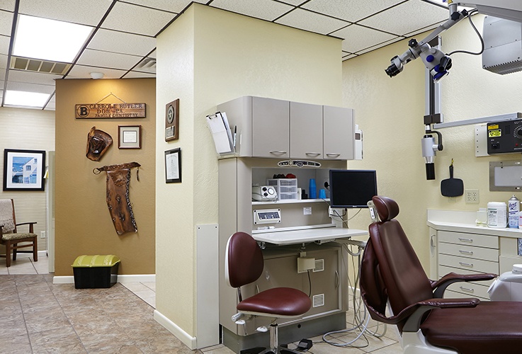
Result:
{"label": "burgundy seat cushion of the reclining dental chair, bottom right corner", "polygon": [[483,301],[477,307],[433,309],[421,325],[433,346],[461,354],[521,353],[522,302]]}

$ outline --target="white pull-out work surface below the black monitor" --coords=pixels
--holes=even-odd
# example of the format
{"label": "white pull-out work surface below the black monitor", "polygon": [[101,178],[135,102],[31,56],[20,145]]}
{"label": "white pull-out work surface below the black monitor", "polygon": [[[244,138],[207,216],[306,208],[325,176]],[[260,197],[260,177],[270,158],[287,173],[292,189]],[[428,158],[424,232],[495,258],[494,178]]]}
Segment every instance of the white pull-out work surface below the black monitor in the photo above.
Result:
{"label": "white pull-out work surface below the black monitor", "polygon": [[359,229],[346,229],[342,227],[322,227],[318,229],[300,229],[292,231],[263,232],[253,234],[256,241],[270,244],[288,245],[305,244],[310,242],[324,243],[336,239],[346,239],[351,236],[364,236],[368,231]]}

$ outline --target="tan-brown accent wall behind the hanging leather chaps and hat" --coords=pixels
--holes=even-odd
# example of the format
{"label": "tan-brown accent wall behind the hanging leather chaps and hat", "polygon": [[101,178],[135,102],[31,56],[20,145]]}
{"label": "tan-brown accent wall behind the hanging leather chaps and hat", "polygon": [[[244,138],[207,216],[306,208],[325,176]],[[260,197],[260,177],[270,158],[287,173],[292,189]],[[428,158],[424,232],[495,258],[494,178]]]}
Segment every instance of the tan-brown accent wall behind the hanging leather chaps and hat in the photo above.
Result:
{"label": "tan-brown accent wall behind the hanging leather chaps and hat", "polygon": [[[119,274],[155,273],[156,87],[155,79],[66,79],[56,82],[56,236],[55,275],[72,275],[71,264],[82,254],[115,254]],[[146,118],[75,119],[74,105],[97,103],[113,93],[127,103],[146,103]],[[109,96],[101,103],[120,103]],[[141,125],[142,148],[118,149],[118,125]],[[107,132],[113,145],[100,161],[86,158],[91,127]],[[116,234],[106,204],[105,165],[137,161],[129,188],[137,233]]]}

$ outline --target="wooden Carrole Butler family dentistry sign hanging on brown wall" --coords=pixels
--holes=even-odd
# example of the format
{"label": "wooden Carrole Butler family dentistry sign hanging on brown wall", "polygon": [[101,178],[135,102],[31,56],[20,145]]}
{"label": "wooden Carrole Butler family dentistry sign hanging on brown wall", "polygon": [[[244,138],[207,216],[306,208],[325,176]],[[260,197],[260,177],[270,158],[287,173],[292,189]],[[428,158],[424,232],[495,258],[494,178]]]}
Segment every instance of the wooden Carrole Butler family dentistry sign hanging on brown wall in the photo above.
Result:
{"label": "wooden Carrole Butler family dentistry sign hanging on brown wall", "polygon": [[145,103],[84,103],[75,109],[76,119],[145,117]]}

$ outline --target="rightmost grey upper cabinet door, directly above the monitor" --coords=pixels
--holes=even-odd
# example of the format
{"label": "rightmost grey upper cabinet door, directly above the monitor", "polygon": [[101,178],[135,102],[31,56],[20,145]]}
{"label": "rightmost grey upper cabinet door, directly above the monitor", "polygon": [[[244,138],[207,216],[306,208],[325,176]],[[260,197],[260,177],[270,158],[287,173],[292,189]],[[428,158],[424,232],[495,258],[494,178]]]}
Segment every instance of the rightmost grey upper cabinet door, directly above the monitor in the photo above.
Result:
{"label": "rightmost grey upper cabinet door, directly above the monitor", "polygon": [[353,159],[354,124],[353,109],[323,106],[324,159]]}

